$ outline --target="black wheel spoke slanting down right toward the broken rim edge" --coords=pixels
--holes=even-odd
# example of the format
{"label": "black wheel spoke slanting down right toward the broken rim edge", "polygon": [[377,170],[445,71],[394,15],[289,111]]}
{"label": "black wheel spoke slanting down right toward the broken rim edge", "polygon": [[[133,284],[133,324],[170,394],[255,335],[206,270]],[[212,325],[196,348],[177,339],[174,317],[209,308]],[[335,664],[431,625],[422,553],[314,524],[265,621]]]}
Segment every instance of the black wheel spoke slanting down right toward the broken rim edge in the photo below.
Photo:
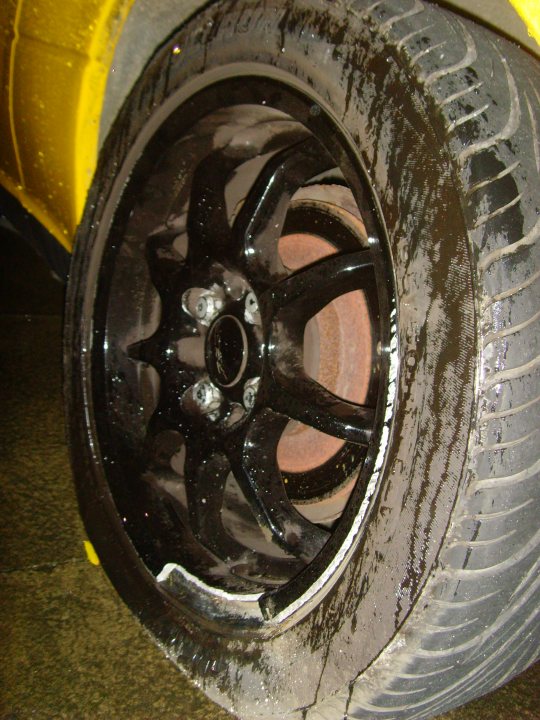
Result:
{"label": "black wheel spoke slanting down right toward the broken rim edge", "polygon": [[277,444],[288,419],[263,408],[229,442],[227,454],[235,478],[259,525],[289,554],[311,561],[329,535],[306,520],[289,499],[277,463]]}

